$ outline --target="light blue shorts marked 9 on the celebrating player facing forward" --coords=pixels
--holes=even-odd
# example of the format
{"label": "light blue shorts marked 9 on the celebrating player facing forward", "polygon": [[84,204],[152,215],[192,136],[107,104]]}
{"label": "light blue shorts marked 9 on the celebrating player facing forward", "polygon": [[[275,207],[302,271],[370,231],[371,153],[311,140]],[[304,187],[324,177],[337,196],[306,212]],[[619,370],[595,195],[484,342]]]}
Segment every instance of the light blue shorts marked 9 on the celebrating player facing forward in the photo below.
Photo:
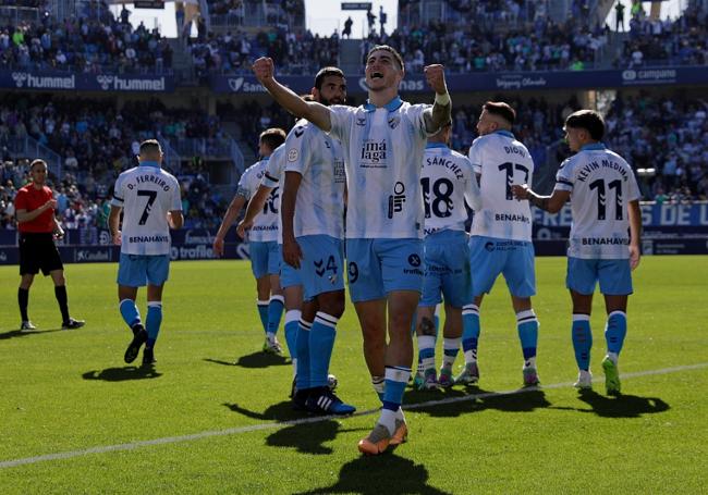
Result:
{"label": "light blue shorts marked 9 on the celebrating player facing forward", "polygon": [[352,302],[423,290],[422,239],[346,239],[346,261]]}

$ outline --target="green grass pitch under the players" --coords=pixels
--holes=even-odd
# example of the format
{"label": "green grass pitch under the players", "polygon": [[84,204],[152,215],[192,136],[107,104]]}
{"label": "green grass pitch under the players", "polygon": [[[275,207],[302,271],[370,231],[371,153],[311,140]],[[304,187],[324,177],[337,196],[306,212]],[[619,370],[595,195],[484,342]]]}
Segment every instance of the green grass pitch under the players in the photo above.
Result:
{"label": "green grass pitch under the players", "polygon": [[[115,269],[66,267],[72,314],[87,321],[76,331],[59,330],[51,282],[37,279],[29,314],[40,331],[30,334],[16,331],[17,268],[0,269],[1,494],[706,491],[707,257],[642,260],[620,398],[603,391],[599,297],[596,394],[581,397],[569,385],[576,371],[562,258],[537,260],[544,387],[488,394],[522,381],[514,315],[498,281],[481,311],[479,388],[408,392],[407,404],[457,401],[408,410],[410,441],[375,458],[362,457],[356,443],[376,412],[293,422],[302,417],[288,401],[291,367],[259,352],[247,262],[172,264],[152,373],[122,361],[130,332],[118,312]],[[344,400],[373,411],[378,400],[361,349],[349,306],[331,371]]]}

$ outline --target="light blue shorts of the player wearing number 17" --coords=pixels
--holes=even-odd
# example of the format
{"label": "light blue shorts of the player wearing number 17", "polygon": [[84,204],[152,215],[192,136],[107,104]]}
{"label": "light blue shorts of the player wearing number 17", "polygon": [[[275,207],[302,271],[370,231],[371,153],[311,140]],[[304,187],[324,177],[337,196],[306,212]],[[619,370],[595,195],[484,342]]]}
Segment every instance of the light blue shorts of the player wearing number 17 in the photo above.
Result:
{"label": "light blue shorts of the player wearing number 17", "polygon": [[469,270],[475,297],[488,294],[500,273],[512,296],[536,294],[532,243],[475,235],[469,239]]}

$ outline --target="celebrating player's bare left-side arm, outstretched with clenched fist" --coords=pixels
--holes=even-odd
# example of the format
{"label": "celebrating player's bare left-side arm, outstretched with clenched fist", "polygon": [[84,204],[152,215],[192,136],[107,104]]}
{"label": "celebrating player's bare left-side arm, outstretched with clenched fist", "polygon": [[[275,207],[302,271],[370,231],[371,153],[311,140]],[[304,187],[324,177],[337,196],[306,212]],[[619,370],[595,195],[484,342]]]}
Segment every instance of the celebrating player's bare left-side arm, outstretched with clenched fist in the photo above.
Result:
{"label": "celebrating player's bare left-side arm, outstretched with clenched fist", "polygon": [[329,116],[329,109],[316,101],[304,101],[289,88],[276,81],[276,67],[272,59],[261,57],[253,64],[253,72],[270,96],[285,110],[297,117],[307,119],[320,129],[329,133],[332,124]]}

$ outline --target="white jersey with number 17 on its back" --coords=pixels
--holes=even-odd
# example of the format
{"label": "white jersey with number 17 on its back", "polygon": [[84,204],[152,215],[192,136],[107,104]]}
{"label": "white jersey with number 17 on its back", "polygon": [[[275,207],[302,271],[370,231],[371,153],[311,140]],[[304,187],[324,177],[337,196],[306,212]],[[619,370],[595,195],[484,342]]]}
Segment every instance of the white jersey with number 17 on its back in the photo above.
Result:
{"label": "white jersey with number 17 on its back", "polygon": [[475,211],[472,235],[499,239],[532,239],[528,201],[514,199],[511,186],[532,187],[534,160],[524,145],[508,131],[497,131],[474,140],[469,161],[480,175],[481,209]]}

